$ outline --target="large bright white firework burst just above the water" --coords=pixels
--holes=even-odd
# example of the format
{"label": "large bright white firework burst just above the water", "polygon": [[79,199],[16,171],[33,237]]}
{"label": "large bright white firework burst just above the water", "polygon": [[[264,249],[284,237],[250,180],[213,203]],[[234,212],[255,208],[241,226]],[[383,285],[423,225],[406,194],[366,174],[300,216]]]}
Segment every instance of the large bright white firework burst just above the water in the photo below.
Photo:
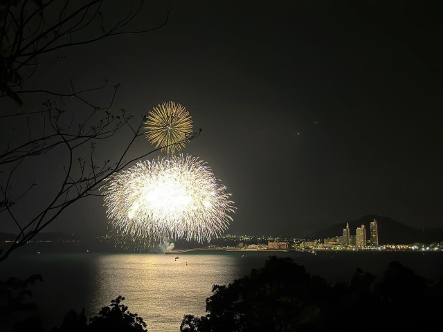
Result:
{"label": "large bright white firework burst just above the water", "polygon": [[138,162],[105,185],[107,216],[124,237],[210,240],[228,227],[230,194],[210,167],[191,156]]}

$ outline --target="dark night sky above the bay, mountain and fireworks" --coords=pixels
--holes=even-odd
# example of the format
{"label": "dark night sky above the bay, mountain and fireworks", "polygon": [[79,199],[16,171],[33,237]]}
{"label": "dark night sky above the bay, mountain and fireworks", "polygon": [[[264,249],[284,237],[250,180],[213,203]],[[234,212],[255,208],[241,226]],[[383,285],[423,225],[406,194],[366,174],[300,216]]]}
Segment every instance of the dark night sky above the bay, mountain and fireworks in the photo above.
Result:
{"label": "dark night sky above the bay, mountain and fireworks", "polygon": [[[440,226],[440,11],[426,1],[338,2],[157,1],[130,28],[161,24],[170,6],[163,28],[61,50],[66,59],[27,87],[64,91],[71,78],[79,89],[107,79],[122,86],[116,110],[138,117],[168,100],[186,106],[204,131],[183,152],[207,161],[233,194],[228,232],[299,236],[370,213]],[[111,21],[125,10],[103,13]],[[110,94],[91,96],[107,104]],[[10,109],[30,111],[46,98]],[[9,135],[10,124],[1,127]],[[142,138],[133,153],[151,148]],[[17,185],[42,178],[33,193],[51,193],[65,157],[22,169]],[[106,225],[102,200],[91,197],[45,231],[98,234]]]}

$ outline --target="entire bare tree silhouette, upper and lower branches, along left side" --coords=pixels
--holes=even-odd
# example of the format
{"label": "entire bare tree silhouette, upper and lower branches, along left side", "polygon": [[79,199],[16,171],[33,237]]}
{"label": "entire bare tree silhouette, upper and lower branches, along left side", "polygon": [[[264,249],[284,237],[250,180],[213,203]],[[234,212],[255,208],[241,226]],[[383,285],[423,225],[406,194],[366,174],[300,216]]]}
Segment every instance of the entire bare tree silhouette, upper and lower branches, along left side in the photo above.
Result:
{"label": "entire bare tree silhouette, upper and lower branches, along left side", "polygon": [[[42,105],[33,105],[32,111],[7,113],[6,107],[1,108],[2,124],[19,123],[23,127],[20,132],[26,132],[26,135],[7,140],[0,138],[0,216],[4,216],[1,222],[9,221],[17,228],[17,237],[4,252],[0,252],[0,261],[26,245],[69,206],[88,196],[101,196],[100,187],[116,172],[168,147],[134,156],[131,147],[144,135],[142,129],[146,116],[134,119],[126,109],[112,110],[120,84],[112,86],[109,102],[105,105],[93,100],[93,92],[108,89],[107,80],[88,89],[77,89],[71,80],[65,92],[25,87],[37,69],[64,58],[55,55],[53,60],[47,59],[47,55],[57,50],[91,44],[111,36],[148,33],[165,26],[169,19],[168,11],[161,24],[131,30],[129,24],[140,15],[144,1],[141,0],[135,8],[129,6],[126,14],[117,18],[107,17],[103,12],[107,2],[110,1],[11,0],[0,7],[0,101],[10,99],[21,106],[22,95],[46,96]],[[42,55],[46,58],[42,59]],[[84,110],[66,111],[66,107],[74,106],[71,104],[73,100],[80,102]],[[172,145],[189,142],[200,133],[201,129],[186,133],[183,140]],[[111,158],[100,155],[102,147],[112,145],[111,138],[116,136],[119,142],[127,140],[126,144],[120,151],[114,149]],[[52,163],[51,156],[62,153],[66,154],[66,159],[61,162],[64,173],[59,180],[44,180],[55,182],[55,192],[39,210],[21,216],[18,212],[24,210],[23,201],[37,197],[35,188],[39,186],[37,181],[26,183],[17,181],[17,178],[28,173],[35,160],[43,160],[47,167]]]}

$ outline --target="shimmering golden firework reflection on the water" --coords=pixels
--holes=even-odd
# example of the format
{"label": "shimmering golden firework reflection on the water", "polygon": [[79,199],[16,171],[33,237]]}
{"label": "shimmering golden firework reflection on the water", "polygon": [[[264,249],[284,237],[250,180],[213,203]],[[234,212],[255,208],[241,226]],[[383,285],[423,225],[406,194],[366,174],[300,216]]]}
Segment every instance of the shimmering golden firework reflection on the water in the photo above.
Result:
{"label": "shimmering golden firework reflection on the water", "polygon": [[237,258],[226,255],[100,257],[87,314],[124,295],[129,311],[143,317],[150,331],[178,331],[183,315],[204,315],[214,284],[233,282],[238,273]]}

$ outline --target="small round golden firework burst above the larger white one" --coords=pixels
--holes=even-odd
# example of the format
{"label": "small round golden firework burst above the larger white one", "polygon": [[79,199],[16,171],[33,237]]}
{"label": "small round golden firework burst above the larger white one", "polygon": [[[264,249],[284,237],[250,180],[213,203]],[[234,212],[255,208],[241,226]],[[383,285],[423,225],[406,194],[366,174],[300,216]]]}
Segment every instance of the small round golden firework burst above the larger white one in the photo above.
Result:
{"label": "small round golden firework burst above the larger white one", "polygon": [[146,138],[171,154],[185,147],[187,136],[192,132],[189,112],[181,104],[164,102],[153,107],[145,121]]}

